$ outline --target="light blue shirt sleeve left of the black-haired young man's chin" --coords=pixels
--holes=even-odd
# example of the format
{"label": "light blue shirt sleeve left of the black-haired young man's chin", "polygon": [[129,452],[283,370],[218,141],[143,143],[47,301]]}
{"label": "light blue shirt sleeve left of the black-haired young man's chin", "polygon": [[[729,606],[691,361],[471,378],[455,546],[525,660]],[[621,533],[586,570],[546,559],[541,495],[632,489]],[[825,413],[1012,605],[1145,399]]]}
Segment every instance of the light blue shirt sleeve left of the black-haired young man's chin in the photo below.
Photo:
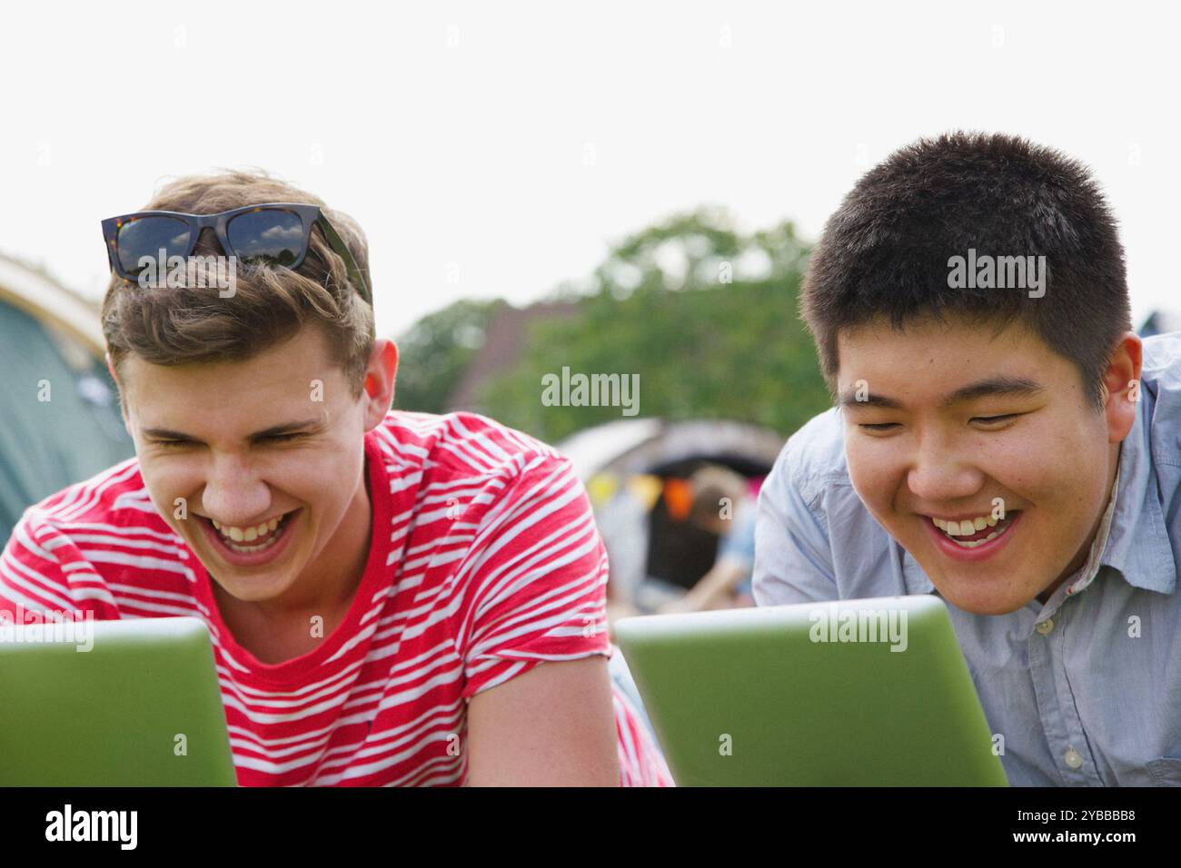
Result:
{"label": "light blue shirt sleeve left of the black-haired young man's chin", "polygon": [[758,495],[755,523],[755,602],[758,606],[836,600],[833,549],[823,514],[792,478],[789,440]]}

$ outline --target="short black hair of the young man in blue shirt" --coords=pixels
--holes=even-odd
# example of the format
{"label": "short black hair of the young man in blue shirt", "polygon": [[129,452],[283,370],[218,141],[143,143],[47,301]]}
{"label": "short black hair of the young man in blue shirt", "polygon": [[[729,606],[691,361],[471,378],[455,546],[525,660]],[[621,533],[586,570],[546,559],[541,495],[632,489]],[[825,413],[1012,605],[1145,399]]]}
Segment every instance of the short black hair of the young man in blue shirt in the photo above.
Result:
{"label": "short black hair of the young man in blue shirt", "polygon": [[[952,288],[953,256],[1045,256],[1044,295]],[[1091,406],[1131,328],[1116,221],[1078,161],[1003,133],[920,138],[867,172],[829,217],[813,252],[801,315],[836,393],[836,337],[886,318],[959,314],[997,329],[1017,320],[1078,368]]]}

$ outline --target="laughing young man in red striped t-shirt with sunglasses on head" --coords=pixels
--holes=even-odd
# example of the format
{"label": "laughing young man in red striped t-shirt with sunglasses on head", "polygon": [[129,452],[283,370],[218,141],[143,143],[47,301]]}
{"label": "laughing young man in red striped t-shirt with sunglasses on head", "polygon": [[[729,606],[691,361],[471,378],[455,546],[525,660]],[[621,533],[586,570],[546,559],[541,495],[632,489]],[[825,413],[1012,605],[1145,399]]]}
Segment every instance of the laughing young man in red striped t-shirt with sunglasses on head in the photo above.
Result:
{"label": "laughing young man in red striped t-shirt with sunglasses on head", "polygon": [[[136,457],[26,511],[0,609],[204,620],[243,785],[668,783],[608,677],[569,463],[482,416],[390,410],[353,221],[228,172],[104,235]],[[177,287],[174,256],[234,280]],[[170,280],[142,279],[154,261]]]}

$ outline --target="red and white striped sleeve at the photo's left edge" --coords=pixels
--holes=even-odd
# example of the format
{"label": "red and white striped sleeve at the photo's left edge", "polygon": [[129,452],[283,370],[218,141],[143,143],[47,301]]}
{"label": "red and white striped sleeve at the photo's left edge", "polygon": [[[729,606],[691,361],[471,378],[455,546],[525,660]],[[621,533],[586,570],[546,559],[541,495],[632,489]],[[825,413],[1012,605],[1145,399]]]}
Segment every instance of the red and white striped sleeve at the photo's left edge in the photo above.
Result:
{"label": "red and white striped sleeve at the photo's left edge", "polygon": [[0,619],[22,624],[26,612],[60,612],[96,620],[119,616],[118,607],[74,541],[35,509],[28,509],[0,554]]}

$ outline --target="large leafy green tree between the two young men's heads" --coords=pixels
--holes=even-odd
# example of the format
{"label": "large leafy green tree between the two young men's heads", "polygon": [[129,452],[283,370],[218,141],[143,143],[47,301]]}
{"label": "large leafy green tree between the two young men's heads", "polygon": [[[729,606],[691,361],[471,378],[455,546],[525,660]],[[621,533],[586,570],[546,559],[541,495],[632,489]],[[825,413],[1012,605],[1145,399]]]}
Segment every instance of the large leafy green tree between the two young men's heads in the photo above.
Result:
{"label": "large leafy green tree between the two young men's heads", "polygon": [[742,234],[703,208],[614,247],[570,318],[531,325],[485,411],[546,440],[621,418],[618,406],[544,406],[542,377],[639,374],[639,415],[726,418],[787,435],[830,406],[797,316],[808,248],[791,223]]}

